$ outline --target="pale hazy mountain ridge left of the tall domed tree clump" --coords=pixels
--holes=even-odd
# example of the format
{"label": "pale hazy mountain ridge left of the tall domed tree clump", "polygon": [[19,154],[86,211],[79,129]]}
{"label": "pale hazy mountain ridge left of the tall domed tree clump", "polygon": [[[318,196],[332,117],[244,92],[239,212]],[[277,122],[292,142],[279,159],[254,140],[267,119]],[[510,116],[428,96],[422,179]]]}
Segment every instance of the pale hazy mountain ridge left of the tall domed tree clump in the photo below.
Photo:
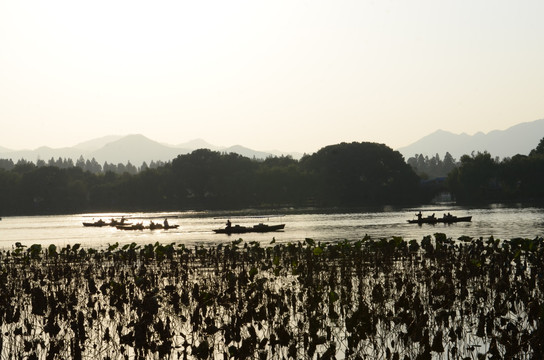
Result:
{"label": "pale hazy mountain ridge left of the tall domed tree clump", "polygon": [[270,156],[289,155],[295,159],[302,156],[300,153],[282,151],[257,151],[240,145],[231,147],[219,147],[207,143],[202,139],[195,139],[178,145],[161,144],[143,135],[110,135],[92,139],[69,148],[40,147],[35,150],[10,150],[0,147],[0,159],[12,159],[18,161],[25,159],[35,162],[38,159],[48,161],[51,158],[72,159],[74,162],[83,156],[85,160],[94,158],[98,163],[110,164],[130,161],[131,164],[140,166],[144,161],[171,161],[181,154],[188,154],[196,149],[207,148],[226,153],[237,153],[249,158],[265,159]]}

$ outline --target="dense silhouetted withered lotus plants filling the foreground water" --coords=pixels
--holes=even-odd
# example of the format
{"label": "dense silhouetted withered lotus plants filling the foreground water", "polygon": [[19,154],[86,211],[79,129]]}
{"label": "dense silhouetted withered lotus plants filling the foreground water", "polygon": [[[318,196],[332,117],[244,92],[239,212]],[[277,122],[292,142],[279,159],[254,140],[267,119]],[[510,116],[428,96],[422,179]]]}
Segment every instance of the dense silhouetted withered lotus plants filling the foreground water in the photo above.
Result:
{"label": "dense silhouetted withered lotus plants filling the foreground water", "polygon": [[0,359],[541,359],[544,241],[0,252]]}

